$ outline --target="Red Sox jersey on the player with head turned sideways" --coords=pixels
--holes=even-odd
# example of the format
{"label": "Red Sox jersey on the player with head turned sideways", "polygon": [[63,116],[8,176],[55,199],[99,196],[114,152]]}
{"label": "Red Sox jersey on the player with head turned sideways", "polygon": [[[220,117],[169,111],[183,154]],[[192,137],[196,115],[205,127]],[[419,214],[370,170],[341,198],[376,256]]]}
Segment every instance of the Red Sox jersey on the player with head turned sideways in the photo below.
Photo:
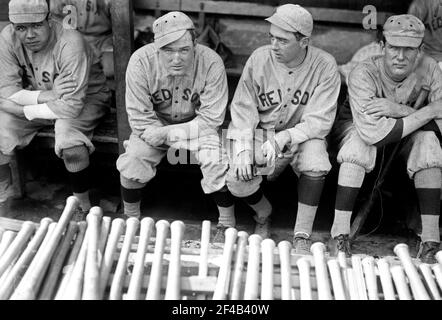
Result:
{"label": "Red Sox jersey on the player with head turned sideways", "polygon": [[340,76],[335,59],[309,46],[304,61],[288,68],[276,61],[271,46],[255,50],[244,66],[233,97],[228,138],[251,148],[254,130],[287,129],[292,143],[323,139],[336,116]]}

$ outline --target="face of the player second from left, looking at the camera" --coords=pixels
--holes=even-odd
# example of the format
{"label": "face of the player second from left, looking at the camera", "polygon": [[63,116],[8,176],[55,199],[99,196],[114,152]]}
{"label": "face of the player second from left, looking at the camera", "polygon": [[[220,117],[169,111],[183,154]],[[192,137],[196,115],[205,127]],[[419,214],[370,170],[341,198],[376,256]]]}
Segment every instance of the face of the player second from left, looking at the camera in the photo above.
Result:
{"label": "face of the player second from left, looking at the camera", "polygon": [[190,32],[159,50],[160,60],[172,76],[183,76],[193,63],[195,44]]}

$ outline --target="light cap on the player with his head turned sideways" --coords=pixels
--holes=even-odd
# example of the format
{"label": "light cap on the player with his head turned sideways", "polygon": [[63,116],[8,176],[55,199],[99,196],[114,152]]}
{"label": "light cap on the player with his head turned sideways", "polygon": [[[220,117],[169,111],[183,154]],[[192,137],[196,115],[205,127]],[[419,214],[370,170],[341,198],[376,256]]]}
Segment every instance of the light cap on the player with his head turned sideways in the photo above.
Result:
{"label": "light cap on the player with his head turned sideways", "polygon": [[299,32],[310,37],[313,31],[313,18],[310,12],[297,4],[284,4],[265,19],[275,26],[290,32]]}

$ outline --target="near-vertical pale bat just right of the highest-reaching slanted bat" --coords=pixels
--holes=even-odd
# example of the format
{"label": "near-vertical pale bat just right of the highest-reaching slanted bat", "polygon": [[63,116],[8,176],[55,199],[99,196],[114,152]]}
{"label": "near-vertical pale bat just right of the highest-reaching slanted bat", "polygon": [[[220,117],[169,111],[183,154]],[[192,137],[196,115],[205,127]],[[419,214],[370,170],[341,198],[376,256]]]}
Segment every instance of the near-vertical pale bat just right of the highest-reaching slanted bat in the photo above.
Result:
{"label": "near-vertical pale bat just right of the highest-reaching slanted bat", "polygon": [[84,269],[83,300],[100,299],[100,266],[99,266],[99,241],[101,219],[103,210],[92,207],[86,216],[87,226],[90,231],[87,238],[86,263]]}

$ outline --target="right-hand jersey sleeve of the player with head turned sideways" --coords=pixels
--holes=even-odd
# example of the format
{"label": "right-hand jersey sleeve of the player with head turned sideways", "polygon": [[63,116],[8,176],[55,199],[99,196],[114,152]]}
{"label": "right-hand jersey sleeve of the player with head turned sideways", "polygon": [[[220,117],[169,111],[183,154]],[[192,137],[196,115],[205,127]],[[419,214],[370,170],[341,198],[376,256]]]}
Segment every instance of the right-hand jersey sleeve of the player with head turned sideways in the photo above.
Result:
{"label": "right-hand jersey sleeve of the player with head turned sideways", "polygon": [[329,134],[336,117],[340,88],[338,68],[335,63],[329,63],[320,71],[319,84],[305,107],[301,121],[288,129],[292,144],[314,138],[324,139]]}

